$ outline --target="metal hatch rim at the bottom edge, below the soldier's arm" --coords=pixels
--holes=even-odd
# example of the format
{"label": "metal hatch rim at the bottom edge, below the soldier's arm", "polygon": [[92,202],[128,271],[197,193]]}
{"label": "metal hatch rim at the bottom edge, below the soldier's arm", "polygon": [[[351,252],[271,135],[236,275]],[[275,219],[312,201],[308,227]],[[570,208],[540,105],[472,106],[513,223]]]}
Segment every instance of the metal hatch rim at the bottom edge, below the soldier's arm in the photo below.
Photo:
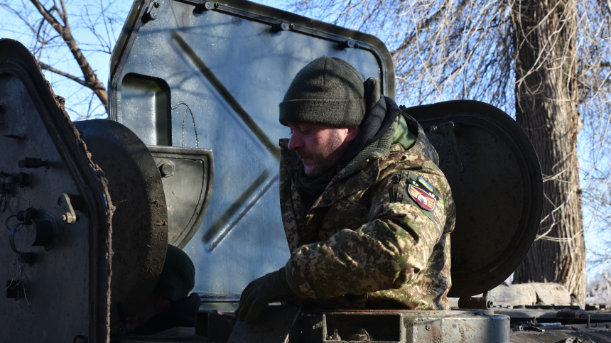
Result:
{"label": "metal hatch rim at the bottom edge, below the soldier's arm", "polygon": [[251,325],[236,322],[228,342],[509,343],[509,334],[509,317],[491,310],[300,312],[270,306]]}

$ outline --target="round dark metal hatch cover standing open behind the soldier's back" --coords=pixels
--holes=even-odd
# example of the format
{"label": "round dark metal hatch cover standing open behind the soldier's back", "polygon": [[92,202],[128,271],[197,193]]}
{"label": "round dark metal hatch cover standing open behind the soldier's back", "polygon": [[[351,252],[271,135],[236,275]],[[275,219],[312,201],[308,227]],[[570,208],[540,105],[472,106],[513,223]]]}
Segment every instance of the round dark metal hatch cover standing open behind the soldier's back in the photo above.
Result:
{"label": "round dark metal hatch cover standing open behind the soldier's back", "polygon": [[406,112],[435,146],[456,205],[448,297],[490,290],[516,270],[539,229],[543,178],[531,141],[514,119],[483,102],[441,102]]}

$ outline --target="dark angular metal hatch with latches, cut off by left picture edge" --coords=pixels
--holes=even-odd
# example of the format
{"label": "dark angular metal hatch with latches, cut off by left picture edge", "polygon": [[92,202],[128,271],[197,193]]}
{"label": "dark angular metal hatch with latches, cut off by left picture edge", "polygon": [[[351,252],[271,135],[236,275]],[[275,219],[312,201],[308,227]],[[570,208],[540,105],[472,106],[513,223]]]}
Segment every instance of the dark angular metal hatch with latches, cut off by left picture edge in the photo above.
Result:
{"label": "dark angular metal hatch with latches, cut off by left picture edge", "polygon": [[107,342],[112,206],[62,104],[33,55],[0,40],[3,342]]}

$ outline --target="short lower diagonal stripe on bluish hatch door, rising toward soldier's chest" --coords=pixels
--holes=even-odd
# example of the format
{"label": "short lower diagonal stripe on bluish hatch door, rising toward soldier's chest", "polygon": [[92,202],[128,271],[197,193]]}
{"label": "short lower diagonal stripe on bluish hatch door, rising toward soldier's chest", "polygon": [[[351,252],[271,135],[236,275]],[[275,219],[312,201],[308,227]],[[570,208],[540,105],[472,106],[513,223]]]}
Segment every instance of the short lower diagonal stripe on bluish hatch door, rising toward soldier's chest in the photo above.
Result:
{"label": "short lower diagonal stripe on bluish hatch door, rising toward soldier's chest", "polygon": [[[236,202],[234,202],[204,234],[202,240],[206,244],[209,244],[207,247],[209,251],[216,249],[220,242],[225,239],[227,234],[229,234],[237,223],[242,220],[244,215],[246,215],[256,202],[258,202],[269,190],[271,185],[274,185],[274,181],[279,178],[279,175],[276,175],[274,178],[269,178],[268,180],[268,176],[269,171],[264,170],[264,172],[254,180],[254,183],[238,197],[238,200],[236,200]],[[259,187],[261,187],[261,190],[255,193]],[[229,222],[229,219],[232,217],[233,219]]]}

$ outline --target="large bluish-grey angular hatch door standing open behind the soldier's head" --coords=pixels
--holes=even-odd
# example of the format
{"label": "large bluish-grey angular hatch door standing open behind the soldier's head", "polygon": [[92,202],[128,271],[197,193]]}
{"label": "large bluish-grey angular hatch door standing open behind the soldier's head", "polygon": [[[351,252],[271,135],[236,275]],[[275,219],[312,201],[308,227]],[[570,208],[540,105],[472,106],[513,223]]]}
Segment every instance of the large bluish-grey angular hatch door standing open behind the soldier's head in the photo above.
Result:
{"label": "large bluish-grey angular hatch door standing open behind the soldier's head", "polygon": [[391,56],[374,36],[248,1],[134,2],[112,54],[110,116],[153,155],[213,151],[215,190],[198,232],[183,241],[204,301],[237,301],[289,256],[277,145],[289,131],[278,104],[296,72],[322,55],[377,77],[394,97]]}

